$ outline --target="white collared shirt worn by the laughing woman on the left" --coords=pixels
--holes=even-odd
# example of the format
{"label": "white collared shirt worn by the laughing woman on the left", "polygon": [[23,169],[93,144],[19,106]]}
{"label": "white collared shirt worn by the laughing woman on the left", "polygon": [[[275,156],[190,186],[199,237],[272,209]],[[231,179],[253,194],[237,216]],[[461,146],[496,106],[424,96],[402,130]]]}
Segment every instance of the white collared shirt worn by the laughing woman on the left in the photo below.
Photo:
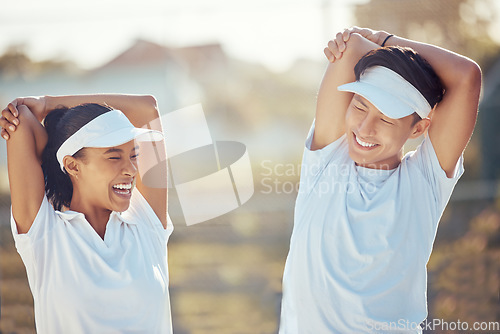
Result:
{"label": "white collared shirt worn by the laughing woman on the left", "polygon": [[172,333],[167,229],[138,190],[112,212],[104,240],[82,213],[55,211],[44,197],[26,234],[11,217],[26,266],[39,334]]}

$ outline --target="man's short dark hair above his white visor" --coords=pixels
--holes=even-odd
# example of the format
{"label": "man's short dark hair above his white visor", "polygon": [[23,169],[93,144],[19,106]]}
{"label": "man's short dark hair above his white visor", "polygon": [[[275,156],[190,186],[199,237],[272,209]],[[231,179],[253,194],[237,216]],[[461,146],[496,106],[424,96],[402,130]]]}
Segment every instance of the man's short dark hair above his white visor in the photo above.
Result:
{"label": "man's short dark hair above his white visor", "polygon": [[[401,75],[418,89],[431,108],[443,98],[444,88],[436,72],[427,60],[411,48],[386,46],[368,52],[354,67],[356,80],[359,80],[366,69],[373,66],[384,66]],[[417,121],[420,120],[417,114],[414,115]]]}

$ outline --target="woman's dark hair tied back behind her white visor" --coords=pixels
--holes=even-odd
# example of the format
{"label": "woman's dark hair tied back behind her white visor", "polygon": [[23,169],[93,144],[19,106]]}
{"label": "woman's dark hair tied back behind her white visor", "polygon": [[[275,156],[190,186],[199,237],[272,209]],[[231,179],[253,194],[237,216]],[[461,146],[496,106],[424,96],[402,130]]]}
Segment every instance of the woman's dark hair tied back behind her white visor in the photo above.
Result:
{"label": "woman's dark hair tied back behind her white visor", "polygon": [[[96,103],[81,104],[73,108],[58,107],[45,117],[44,126],[48,141],[42,153],[42,170],[45,178],[45,192],[54,209],[69,207],[73,196],[73,183],[69,175],[61,170],[56,153],[62,143],[82,126],[108,111],[109,106]],[[73,154],[75,158],[84,157],[84,149]]]}

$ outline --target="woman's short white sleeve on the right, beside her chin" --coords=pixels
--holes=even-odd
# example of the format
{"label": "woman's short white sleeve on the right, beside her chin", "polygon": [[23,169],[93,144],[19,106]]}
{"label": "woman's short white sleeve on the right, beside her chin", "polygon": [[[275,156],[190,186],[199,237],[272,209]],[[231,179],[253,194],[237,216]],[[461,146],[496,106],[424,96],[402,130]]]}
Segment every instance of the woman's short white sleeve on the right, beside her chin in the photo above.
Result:
{"label": "woman's short white sleeve on the right, beside her chin", "polygon": [[174,225],[167,214],[167,228],[163,227],[160,219],[149,205],[148,201],[142,196],[139,190],[132,191],[130,206],[127,211],[122,213],[123,218],[134,220],[138,224],[145,224],[150,230],[157,234],[160,238],[168,240],[174,229]]}

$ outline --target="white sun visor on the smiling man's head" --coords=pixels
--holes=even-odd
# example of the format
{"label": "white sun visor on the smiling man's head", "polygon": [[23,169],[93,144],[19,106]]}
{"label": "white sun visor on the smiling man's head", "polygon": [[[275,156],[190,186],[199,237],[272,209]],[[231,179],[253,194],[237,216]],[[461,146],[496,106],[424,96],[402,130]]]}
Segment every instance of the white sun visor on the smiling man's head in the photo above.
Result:
{"label": "white sun visor on the smiling man's head", "polygon": [[384,115],[394,119],[413,113],[426,118],[432,109],[418,89],[383,66],[370,67],[364,71],[359,81],[341,85],[337,89],[361,95]]}

